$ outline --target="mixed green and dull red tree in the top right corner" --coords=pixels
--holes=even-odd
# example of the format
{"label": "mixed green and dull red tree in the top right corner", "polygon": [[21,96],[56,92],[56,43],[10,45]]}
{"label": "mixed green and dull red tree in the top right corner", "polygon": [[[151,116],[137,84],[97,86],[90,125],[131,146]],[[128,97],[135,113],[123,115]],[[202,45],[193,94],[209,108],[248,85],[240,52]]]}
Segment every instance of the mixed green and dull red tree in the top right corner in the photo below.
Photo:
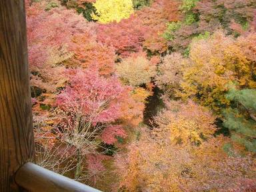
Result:
{"label": "mixed green and dull red tree in the top right corner", "polygon": [[255,7],[252,1],[184,0],[179,7],[182,21],[168,23],[164,37],[171,49],[186,55],[189,43],[200,34],[213,33],[221,28],[238,36],[237,26],[239,33],[247,31]]}

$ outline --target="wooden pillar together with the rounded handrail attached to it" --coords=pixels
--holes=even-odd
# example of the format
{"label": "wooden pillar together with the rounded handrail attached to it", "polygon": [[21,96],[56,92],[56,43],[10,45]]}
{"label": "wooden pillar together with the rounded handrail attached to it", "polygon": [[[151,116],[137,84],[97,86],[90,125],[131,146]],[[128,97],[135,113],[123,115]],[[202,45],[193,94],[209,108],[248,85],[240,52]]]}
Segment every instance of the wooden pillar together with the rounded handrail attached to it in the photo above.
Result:
{"label": "wooden pillar together with the rounded handrail attached to it", "polygon": [[35,147],[24,0],[0,0],[0,191],[88,191],[33,163]]}

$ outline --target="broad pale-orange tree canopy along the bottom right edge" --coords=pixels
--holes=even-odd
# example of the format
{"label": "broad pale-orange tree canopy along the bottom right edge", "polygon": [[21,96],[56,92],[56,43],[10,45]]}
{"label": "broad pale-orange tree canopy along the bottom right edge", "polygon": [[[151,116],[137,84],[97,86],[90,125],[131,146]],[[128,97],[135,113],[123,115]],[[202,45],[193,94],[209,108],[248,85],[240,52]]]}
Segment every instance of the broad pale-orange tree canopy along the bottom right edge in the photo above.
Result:
{"label": "broad pale-orange tree canopy along the bottom right edge", "polygon": [[[160,130],[159,130],[160,131]],[[253,156],[229,156],[218,136],[199,146],[171,143],[145,128],[127,153],[115,156],[120,191],[254,191]],[[246,175],[246,176],[245,176]]]}

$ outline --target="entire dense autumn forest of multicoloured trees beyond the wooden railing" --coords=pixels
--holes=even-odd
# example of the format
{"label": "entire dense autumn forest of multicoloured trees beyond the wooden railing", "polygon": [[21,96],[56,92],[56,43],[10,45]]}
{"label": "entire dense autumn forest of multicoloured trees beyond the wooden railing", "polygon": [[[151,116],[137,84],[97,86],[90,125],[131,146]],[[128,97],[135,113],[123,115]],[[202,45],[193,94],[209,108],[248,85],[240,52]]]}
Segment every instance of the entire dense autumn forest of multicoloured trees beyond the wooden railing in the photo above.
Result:
{"label": "entire dense autumn forest of multicoloured trees beyond the wooden railing", "polygon": [[37,164],[101,191],[256,191],[255,0],[27,0]]}

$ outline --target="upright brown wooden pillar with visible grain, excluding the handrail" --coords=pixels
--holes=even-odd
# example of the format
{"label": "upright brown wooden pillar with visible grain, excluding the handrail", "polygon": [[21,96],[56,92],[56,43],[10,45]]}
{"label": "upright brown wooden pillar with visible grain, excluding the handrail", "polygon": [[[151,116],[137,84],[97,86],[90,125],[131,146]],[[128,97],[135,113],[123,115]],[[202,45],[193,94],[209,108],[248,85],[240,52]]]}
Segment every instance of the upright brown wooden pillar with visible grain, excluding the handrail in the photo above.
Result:
{"label": "upright brown wooden pillar with visible grain, excluding the handrail", "polygon": [[0,191],[33,159],[34,141],[23,0],[0,0]]}

